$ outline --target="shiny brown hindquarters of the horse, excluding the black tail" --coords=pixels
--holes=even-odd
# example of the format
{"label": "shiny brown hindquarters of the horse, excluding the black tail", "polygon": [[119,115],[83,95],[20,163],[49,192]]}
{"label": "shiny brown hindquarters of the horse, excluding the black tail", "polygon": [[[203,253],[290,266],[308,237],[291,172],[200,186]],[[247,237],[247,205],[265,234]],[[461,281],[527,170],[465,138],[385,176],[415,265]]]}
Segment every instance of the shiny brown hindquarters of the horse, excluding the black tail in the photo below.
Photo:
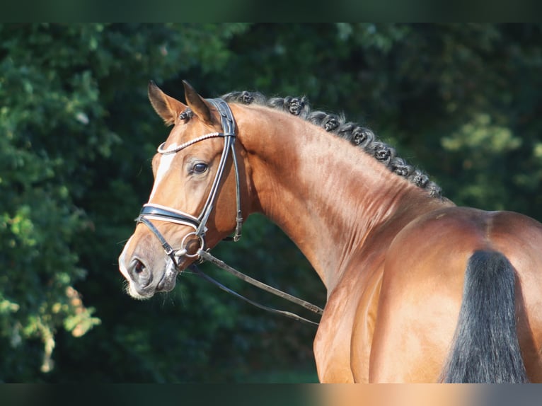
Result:
{"label": "shiny brown hindquarters of the horse, excluding the black tail", "polygon": [[519,344],[542,381],[542,225],[506,211],[451,207],[403,228],[386,254],[371,347],[371,381],[437,381],[451,350],[469,259],[502,253],[516,274]]}

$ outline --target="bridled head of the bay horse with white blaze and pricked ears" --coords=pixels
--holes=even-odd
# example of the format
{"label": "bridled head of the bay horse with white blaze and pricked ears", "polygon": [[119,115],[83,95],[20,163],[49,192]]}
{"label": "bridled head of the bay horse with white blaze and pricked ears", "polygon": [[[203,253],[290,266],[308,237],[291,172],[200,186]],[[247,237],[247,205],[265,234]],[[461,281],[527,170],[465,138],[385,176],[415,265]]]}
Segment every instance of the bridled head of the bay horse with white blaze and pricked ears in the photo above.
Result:
{"label": "bridled head of the bay horse with white blaze and pricked ears", "polygon": [[149,100],[174,127],[152,160],[154,186],[137,227],[119,257],[134,298],[171,291],[175,277],[236,229],[240,184],[235,124],[229,106],[206,100],[185,83],[186,105],[149,83]]}

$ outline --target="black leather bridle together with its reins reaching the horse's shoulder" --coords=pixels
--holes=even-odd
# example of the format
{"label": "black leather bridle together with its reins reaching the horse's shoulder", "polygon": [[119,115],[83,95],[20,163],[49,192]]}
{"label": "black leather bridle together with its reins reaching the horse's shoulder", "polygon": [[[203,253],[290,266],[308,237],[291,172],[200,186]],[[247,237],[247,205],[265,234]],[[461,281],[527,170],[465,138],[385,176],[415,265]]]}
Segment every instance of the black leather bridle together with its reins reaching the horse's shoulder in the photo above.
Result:
{"label": "black leather bridle together with its reins reaching the horse's shoulder", "polygon": [[[233,267],[226,265],[226,263],[214,257],[208,252],[208,250],[205,249],[204,237],[205,237],[205,232],[207,231],[207,227],[206,227],[207,221],[209,220],[209,216],[212,213],[212,210],[214,209],[214,203],[216,202],[216,199],[217,199],[217,191],[219,190],[219,185],[224,175],[224,168],[226,166],[226,161],[230,153],[231,153],[231,158],[233,160],[233,168],[235,169],[235,176],[236,176],[237,214],[236,214],[236,229],[235,229],[233,238],[229,237],[226,239],[238,241],[239,238],[241,238],[241,227],[243,225],[243,216],[241,214],[241,186],[240,186],[241,183],[239,179],[238,163],[237,163],[237,158],[236,158],[236,153],[235,153],[236,125],[235,125],[235,121],[233,120],[233,114],[231,112],[231,109],[229,108],[228,103],[226,103],[224,100],[215,98],[215,99],[207,99],[207,101],[209,101],[209,103],[214,105],[214,107],[217,108],[220,114],[222,132],[212,132],[209,134],[204,134],[200,137],[192,139],[192,141],[187,141],[184,144],[180,144],[179,146],[173,146],[170,149],[164,148],[166,143],[163,143],[160,146],[158,146],[158,153],[169,154],[169,153],[177,153],[178,151],[182,149],[188,148],[189,146],[196,144],[197,142],[204,141],[206,139],[212,139],[212,138],[218,138],[218,137],[224,139],[224,149],[222,150],[222,155],[220,157],[219,166],[217,168],[217,174],[214,177],[211,190],[209,191],[209,196],[207,197],[207,200],[204,204],[202,211],[200,212],[200,215],[195,217],[195,216],[192,216],[192,214],[188,214],[188,213],[185,213],[184,211],[172,209],[171,207],[161,206],[160,204],[147,203],[143,205],[143,208],[141,212],[139,213],[139,216],[137,217],[137,219],[135,219],[135,221],[137,221],[137,223],[145,224],[145,226],[147,226],[149,230],[152,233],[154,233],[154,236],[156,236],[156,238],[158,238],[158,240],[160,241],[166,255],[168,255],[168,257],[170,257],[171,260],[173,261],[173,265],[175,265],[176,269],[178,269],[178,264],[179,264],[178,260],[180,259],[180,257],[197,258],[201,262],[203,261],[212,262],[212,264],[216,265],[217,267],[221,269],[224,269],[226,272],[229,272],[230,274],[233,274],[233,276],[238,277],[244,282],[248,282],[249,284],[252,284],[253,286],[257,286],[258,288],[263,289],[267,292],[270,292],[271,294],[275,294],[281,298],[284,298],[287,301],[291,301],[292,303],[296,303],[299,306],[303,306],[304,308],[308,309],[309,311],[312,311],[313,313],[322,315],[323,314],[322,308],[319,308],[318,306],[315,306],[312,303],[309,303],[307,301],[296,298],[295,296],[289,295],[286,292],[280,291],[279,289],[275,289],[274,287],[264,284],[263,282],[259,282],[256,279],[248,277],[246,274],[243,274],[239,272],[238,270],[234,269]],[[194,231],[188,233],[181,241],[181,244],[180,244],[181,248],[178,250],[175,250],[168,243],[166,238],[164,238],[162,233],[158,231],[158,228],[154,226],[151,220],[168,221],[174,224],[190,226],[194,228]],[[200,248],[194,254],[188,253],[188,250],[185,247],[185,241],[187,240],[189,236],[195,236],[200,241]],[[252,304],[253,306],[261,308],[265,311],[270,311],[272,313],[284,315],[286,317],[293,318],[294,320],[302,321],[304,323],[318,325],[318,323],[312,320],[303,318],[300,315],[296,315],[295,313],[291,313],[289,311],[282,311],[275,308],[270,308],[260,303],[256,303],[255,301],[251,301],[245,296],[242,296],[241,294],[238,294],[235,291],[232,291],[231,289],[224,286],[220,282],[217,282],[215,279],[212,279],[212,277],[209,277],[207,274],[204,274],[204,272],[202,272],[194,264],[190,265],[190,269],[192,269],[192,272],[202,277],[203,279],[207,280],[208,282],[211,282],[212,284],[217,285],[220,289],[228,292],[229,294],[232,294],[233,296],[236,296],[237,298],[241,298],[243,301],[246,301]]]}

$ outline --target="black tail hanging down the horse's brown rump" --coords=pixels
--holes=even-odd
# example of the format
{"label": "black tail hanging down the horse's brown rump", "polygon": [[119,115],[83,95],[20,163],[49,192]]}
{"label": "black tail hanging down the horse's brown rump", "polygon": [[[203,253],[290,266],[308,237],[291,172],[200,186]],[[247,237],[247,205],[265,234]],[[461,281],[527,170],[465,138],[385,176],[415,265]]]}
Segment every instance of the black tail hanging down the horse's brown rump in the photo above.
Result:
{"label": "black tail hanging down the horse's brown rump", "polygon": [[495,251],[468,260],[446,383],[526,383],[516,330],[514,267]]}

